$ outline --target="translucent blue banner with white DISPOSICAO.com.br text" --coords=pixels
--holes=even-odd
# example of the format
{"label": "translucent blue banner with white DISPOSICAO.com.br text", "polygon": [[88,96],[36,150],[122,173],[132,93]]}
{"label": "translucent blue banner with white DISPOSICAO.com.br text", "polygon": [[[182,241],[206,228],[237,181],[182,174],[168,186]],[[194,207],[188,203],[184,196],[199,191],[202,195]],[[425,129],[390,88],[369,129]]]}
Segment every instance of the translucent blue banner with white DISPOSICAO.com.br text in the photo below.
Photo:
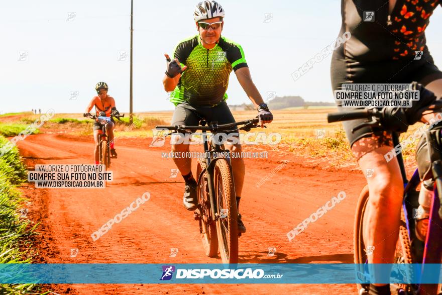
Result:
{"label": "translucent blue banner with white DISPOSICAO.com.br text", "polygon": [[[0,264],[0,283],[442,283],[442,264]],[[376,275],[373,275],[373,274]]]}

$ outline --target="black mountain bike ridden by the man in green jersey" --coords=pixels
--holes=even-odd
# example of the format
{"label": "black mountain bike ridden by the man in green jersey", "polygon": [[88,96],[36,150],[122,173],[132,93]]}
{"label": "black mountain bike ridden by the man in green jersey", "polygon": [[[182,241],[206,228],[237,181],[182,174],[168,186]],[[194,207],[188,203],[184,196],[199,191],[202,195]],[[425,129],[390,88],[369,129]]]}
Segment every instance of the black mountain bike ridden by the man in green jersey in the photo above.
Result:
{"label": "black mountain bike ridden by the man in green jersey", "polygon": [[[218,125],[200,120],[199,126],[156,126],[178,133],[202,131],[204,156],[196,164],[197,210],[194,219],[199,221],[199,232],[204,252],[209,257],[219,253],[223,263],[238,263],[238,207],[232,173],[231,154],[222,143],[224,135],[238,130],[250,131],[258,127],[258,119]],[[207,140],[207,131],[212,134]],[[172,135],[174,132],[168,134]]]}

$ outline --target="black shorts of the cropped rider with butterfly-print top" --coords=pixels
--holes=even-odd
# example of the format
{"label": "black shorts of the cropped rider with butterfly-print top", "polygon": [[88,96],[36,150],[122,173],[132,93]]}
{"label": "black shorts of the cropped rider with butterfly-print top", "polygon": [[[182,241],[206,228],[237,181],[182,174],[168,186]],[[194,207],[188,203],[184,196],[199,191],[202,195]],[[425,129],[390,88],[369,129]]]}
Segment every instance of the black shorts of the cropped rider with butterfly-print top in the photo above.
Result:
{"label": "black shorts of the cropped rider with butterfly-print top", "polygon": [[[332,57],[330,69],[333,90],[340,90],[343,83],[411,83],[417,81],[426,85],[434,80],[442,79],[442,72],[434,65],[429,52],[424,53],[421,60],[391,60],[380,62],[359,62],[344,58],[340,50],[336,50]],[[338,104],[339,112],[351,112],[364,108],[342,108]],[[366,121],[343,121],[347,138],[352,146],[363,137],[380,135],[383,130],[376,127],[364,127],[352,133],[352,128]]]}

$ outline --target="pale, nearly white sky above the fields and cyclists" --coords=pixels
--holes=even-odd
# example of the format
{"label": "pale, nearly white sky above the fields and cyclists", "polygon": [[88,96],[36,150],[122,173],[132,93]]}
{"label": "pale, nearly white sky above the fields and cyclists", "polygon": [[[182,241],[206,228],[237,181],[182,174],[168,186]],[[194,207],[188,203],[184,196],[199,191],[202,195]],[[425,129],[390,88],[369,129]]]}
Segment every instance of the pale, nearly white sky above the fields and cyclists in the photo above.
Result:
{"label": "pale, nearly white sky above the fields and cyclists", "polygon": [[[162,87],[163,54],[196,34],[197,1],[134,0],[134,112],[172,110]],[[263,96],[301,95],[306,101],[333,102],[330,56],[297,81],[291,73],[338,36],[340,0],[220,0],[226,11],[223,35],[244,49],[253,80]],[[68,13],[75,16],[68,19]],[[264,22],[271,13],[270,22]],[[41,108],[82,113],[106,81],[122,112],[129,110],[130,0],[16,1],[0,3],[0,113]],[[442,66],[442,12],[426,30],[436,65]],[[27,59],[19,61],[20,52]],[[123,53],[124,54],[124,53]],[[78,96],[71,99],[71,92]],[[229,104],[249,99],[234,73]],[[264,97],[265,98],[265,97]]]}

